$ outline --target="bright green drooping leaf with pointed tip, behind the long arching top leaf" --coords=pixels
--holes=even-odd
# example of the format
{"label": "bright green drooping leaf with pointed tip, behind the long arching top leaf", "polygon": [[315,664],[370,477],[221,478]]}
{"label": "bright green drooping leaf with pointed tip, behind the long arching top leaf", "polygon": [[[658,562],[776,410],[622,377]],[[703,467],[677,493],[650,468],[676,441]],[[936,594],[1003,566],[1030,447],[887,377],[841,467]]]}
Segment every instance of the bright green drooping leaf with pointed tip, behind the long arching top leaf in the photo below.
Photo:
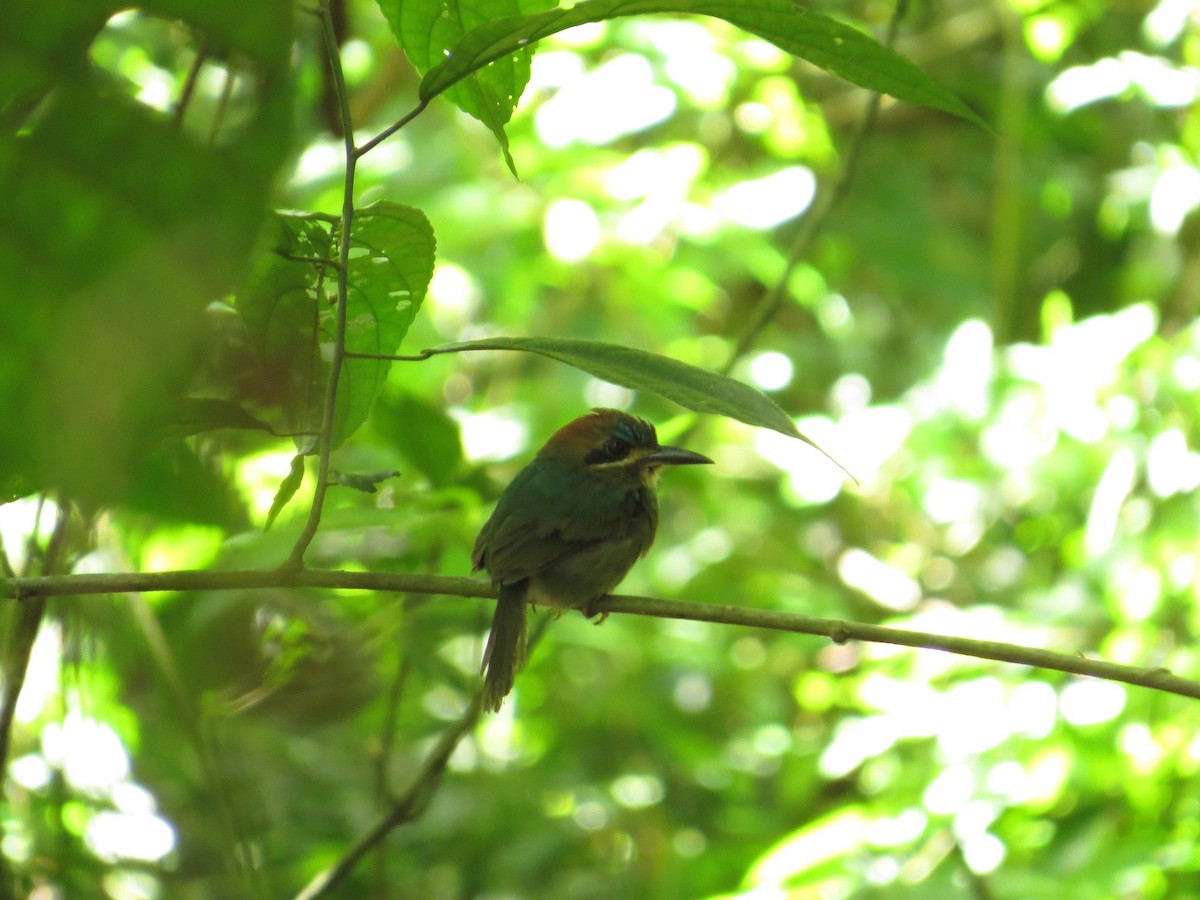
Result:
{"label": "bright green drooping leaf with pointed tip, behind the long arching top leaf", "polygon": [[[378,0],[392,34],[416,71],[425,74],[440,65],[462,36],[487,22],[550,10],[553,0]],[[497,65],[479,70],[449,89],[448,98],[486,125],[504,151],[504,161],[516,175],[504,126],[512,118],[521,92],[529,82],[527,49],[517,49]]]}

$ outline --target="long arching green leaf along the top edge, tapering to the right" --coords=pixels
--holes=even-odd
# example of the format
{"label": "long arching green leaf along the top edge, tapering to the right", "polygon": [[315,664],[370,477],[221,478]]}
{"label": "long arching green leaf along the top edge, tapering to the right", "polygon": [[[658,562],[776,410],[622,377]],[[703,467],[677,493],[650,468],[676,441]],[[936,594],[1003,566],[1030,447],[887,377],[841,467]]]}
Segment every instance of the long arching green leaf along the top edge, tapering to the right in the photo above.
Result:
{"label": "long arching green leaf along the top edge, tapering to the right", "polygon": [[895,50],[791,0],[584,0],[570,8],[496,19],[468,31],[450,58],[426,73],[421,79],[421,100],[427,102],[490,62],[523,53],[530,44],[564,29],[646,13],[696,13],[725,19],[863,88],[983,125],[952,91]]}

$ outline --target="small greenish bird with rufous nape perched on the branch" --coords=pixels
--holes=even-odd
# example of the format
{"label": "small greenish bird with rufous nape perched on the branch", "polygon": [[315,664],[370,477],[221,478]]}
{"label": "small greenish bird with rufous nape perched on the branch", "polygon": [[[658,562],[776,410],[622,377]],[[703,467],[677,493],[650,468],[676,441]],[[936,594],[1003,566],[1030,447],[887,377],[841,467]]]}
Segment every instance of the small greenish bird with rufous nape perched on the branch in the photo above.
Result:
{"label": "small greenish bird with rufous nape perched on the branch", "polygon": [[484,707],[499,709],[526,656],[526,604],[582,610],[650,548],[664,466],[712,463],[659,446],[654,426],[593,409],[559,428],[500,494],[472,563],[500,588],[484,650]]}

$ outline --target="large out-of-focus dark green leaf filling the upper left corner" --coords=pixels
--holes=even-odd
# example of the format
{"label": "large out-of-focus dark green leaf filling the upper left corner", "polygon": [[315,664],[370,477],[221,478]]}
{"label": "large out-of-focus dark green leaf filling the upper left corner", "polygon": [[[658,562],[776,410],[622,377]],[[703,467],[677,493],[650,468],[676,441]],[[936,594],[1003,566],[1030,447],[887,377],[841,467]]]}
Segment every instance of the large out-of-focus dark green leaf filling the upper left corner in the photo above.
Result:
{"label": "large out-of-focus dark green leaf filling the upper left corner", "polygon": [[245,20],[200,0],[154,7],[236,55],[252,85],[245,118],[215,143],[89,65],[115,6],[0,4],[0,56],[14,60],[0,64],[0,460],[95,503],[131,490],[289,151],[292,4],[251,4]]}

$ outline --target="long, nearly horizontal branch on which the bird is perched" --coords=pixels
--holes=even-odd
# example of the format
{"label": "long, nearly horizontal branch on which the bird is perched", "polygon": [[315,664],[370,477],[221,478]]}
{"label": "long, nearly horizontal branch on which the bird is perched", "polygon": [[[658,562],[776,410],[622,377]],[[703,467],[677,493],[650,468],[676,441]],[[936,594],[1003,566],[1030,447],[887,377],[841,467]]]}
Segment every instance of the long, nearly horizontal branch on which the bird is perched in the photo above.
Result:
{"label": "long, nearly horizontal branch on which the bird is perched", "polygon": [[[392,572],[348,572],[244,569],[229,571],[131,572],[127,575],[58,575],[41,578],[12,578],[0,584],[0,596],[29,602],[50,595],[114,594],[133,590],[234,590],[245,588],[310,587],[344,590],[410,592],[466,598],[496,598],[496,589],[479,578],[442,575],[397,575]],[[886,625],[842,619],[824,619],[772,610],[659,600],[649,596],[613,595],[595,605],[596,612],[688,619],[722,625],[791,631],[828,637],[836,643],[869,641],[901,647],[944,650],[962,656],[1049,668],[1069,674],[1104,678],[1200,700],[1200,682],[1180,678],[1166,668],[1126,666],[1085,656],[1054,653],[1000,641],[935,635]]]}

